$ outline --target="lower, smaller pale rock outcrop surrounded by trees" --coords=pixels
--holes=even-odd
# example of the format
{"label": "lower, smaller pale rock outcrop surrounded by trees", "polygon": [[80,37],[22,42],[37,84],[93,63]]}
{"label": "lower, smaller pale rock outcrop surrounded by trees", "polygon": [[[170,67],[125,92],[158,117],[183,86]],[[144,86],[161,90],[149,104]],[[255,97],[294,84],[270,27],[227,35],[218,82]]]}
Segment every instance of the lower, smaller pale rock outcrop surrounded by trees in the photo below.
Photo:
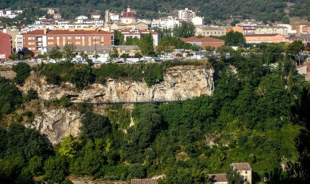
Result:
{"label": "lower, smaller pale rock outcrop surrounded by trees", "polygon": [[79,113],[66,108],[43,109],[42,115],[36,116],[31,124],[25,124],[46,135],[52,144],[61,142],[62,138],[69,135],[78,136],[81,125]]}

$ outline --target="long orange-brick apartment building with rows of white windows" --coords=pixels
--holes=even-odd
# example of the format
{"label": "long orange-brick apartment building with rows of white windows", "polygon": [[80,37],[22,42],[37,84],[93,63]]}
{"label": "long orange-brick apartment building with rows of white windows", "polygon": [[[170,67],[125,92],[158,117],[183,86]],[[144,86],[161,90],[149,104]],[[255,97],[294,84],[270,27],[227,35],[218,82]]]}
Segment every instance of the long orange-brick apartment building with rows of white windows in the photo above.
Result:
{"label": "long orange-brick apartment building with rows of white windows", "polygon": [[23,49],[31,55],[41,54],[47,46],[113,46],[112,32],[96,30],[34,30],[22,34]]}

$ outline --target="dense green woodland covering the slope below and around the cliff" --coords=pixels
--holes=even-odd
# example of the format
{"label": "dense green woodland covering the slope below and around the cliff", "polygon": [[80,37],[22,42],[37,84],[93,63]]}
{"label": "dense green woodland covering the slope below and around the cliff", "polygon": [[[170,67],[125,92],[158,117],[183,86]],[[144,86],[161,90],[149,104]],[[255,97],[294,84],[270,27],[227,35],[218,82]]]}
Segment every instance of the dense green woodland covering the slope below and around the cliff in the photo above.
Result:
{"label": "dense green woodland covering the slope below and around the cliff", "polygon": [[[20,124],[25,118],[26,123],[31,122],[33,114],[17,111],[30,102],[40,102],[32,89],[22,94],[16,87],[15,83],[23,83],[30,72],[25,64],[16,65],[15,82],[0,77],[0,182],[31,184],[35,177],[65,184],[70,183],[66,180],[69,175],[129,180],[165,173],[167,178],[160,180],[161,184],[202,184],[207,181],[205,173],[224,173],[232,162],[248,162],[254,181],[263,182],[266,175],[270,184],[307,183],[310,86],[296,73],[295,61],[290,59],[294,44],[287,48],[262,45],[248,56],[229,47],[220,48],[219,58],[209,58],[215,69],[211,96],[135,104],[131,112],[121,105],[109,105],[105,115],[94,113],[92,105],[73,105],[68,99],[46,102],[46,107],[67,107],[83,115],[81,134],[54,146],[36,130]],[[286,54],[280,54],[283,52]],[[278,63],[278,67],[270,69],[270,63]],[[55,72],[48,76],[66,81],[66,71],[61,68],[68,68],[67,72],[80,76],[73,77],[74,81],[69,77],[69,81],[87,85],[80,83],[87,77],[80,71],[91,67],[67,64],[40,65],[32,70],[41,71],[40,75]],[[164,68],[158,65],[159,70],[154,71],[160,76]],[[136,69],[126,67],[104,65],[91,73],[135,76]],[[21,69],[27,70],[19,72]],[[9,125],[3,121],[7,114],[14,117]],[[133,126],[129,126],[131,117]],[[288,170],[281,173],[280,163],[287,164]]]}

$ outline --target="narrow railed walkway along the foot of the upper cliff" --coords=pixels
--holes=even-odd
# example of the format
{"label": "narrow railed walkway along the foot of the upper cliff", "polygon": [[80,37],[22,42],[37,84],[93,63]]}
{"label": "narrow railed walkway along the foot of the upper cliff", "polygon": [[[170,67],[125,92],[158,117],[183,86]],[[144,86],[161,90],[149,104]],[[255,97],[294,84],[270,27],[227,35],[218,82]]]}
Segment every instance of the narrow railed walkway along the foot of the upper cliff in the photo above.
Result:
{"label": "narrow railed walkway along the foot of the upper cliff", "polygon": [[[40,100],[43,101],[51,101],[48,99],[44,99],[44,98],[39,98]],[[186,101],[185,100],[181,100],[181,99],[165,99],[165,98],[160,98],[160,99],[156,99],[156,98],[150,98],[150,99],[142,99],[142,100],[133,100],[133,101],[124,101],[124,100],[119,100],[116,99],[114,101],[97,101],[97,100],[70,100],[71,103],[73,104],[78,104],[78,103],[82,103],[82,102],[86,102],[89,104],[96,104],[96,105],[104,105],[104,104],[145,104],[145,103],[168,103],[168,102],[181,102],[181,101]]]}

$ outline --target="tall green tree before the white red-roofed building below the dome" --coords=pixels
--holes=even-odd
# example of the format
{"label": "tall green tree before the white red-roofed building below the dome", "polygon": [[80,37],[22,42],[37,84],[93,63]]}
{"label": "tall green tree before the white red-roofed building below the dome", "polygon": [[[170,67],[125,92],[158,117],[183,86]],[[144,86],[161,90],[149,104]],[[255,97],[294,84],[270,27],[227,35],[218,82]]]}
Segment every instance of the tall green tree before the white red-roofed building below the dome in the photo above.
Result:
{"label": "tall green tree before the white red-roofed building below the dome", "polygon": [[139,50],[143,56],[154,55],[154,39],[151,33],[140,34]]}

